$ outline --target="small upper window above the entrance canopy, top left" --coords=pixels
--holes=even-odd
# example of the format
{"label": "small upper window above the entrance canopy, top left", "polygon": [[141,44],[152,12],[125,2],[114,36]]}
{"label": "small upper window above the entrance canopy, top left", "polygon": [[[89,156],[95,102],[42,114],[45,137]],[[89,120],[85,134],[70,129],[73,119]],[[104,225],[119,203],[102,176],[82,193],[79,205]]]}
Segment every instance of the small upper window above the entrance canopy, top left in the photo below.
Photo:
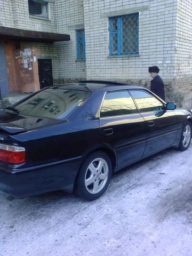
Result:
{"label": "small upper window above the entrance canopy, top left", "polygon": [[29,14],[35,15],[43,18],[48,18],[47,6],[48,3],[41,2],[38,0],[28,0],[29,4]]}

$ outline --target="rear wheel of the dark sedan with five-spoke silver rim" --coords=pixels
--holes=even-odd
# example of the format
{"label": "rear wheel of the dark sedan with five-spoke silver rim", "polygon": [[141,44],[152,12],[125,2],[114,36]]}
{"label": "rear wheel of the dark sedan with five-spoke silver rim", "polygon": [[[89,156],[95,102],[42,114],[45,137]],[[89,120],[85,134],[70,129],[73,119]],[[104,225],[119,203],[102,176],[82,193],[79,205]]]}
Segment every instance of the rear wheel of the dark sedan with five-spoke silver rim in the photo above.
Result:
{"label": "rear wheel of the dark sedan with five-spoke silver rim", "polygon": [[83,162],[75,182],[77,196],[93,201],[106,191],[112,174],[109,156],[95,151]]}

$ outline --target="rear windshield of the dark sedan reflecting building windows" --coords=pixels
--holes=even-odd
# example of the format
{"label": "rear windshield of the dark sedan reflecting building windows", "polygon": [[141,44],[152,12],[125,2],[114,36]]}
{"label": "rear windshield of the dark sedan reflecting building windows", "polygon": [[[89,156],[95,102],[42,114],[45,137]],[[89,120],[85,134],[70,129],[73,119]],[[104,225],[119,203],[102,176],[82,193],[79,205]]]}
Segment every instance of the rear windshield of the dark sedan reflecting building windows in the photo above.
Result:
{"label": "rear windshield of the dark sedan reflecting building windows", "polygon": [[65,119],[73,114],[90,94],[88,91],[55,86],[39,91],[21,103],[16,103],[14,108],[20,115]]}

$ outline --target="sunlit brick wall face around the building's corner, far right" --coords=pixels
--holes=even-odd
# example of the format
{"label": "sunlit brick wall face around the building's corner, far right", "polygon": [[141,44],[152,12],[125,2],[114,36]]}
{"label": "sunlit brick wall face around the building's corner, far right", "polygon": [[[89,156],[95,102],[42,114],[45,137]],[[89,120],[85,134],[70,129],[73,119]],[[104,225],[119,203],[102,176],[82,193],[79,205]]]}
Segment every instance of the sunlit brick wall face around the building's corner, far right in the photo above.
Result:
{"label": "sunlit brick wall face around the building's corner, far right", "polygon": [[175,93],[181,106],[192,108],[192,3],[178,0],[175,49]]}

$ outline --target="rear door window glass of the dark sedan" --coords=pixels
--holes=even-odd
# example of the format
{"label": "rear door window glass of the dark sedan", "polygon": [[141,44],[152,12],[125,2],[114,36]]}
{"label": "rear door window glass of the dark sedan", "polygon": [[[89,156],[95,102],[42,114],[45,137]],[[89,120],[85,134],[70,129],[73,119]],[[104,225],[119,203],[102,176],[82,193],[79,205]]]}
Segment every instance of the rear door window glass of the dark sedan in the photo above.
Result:
{"label": "rear door window glass of the dark sedan", "polygon": [[103,100],[100,117],[119,116],[138,113],[127,90],[108,92]]}

